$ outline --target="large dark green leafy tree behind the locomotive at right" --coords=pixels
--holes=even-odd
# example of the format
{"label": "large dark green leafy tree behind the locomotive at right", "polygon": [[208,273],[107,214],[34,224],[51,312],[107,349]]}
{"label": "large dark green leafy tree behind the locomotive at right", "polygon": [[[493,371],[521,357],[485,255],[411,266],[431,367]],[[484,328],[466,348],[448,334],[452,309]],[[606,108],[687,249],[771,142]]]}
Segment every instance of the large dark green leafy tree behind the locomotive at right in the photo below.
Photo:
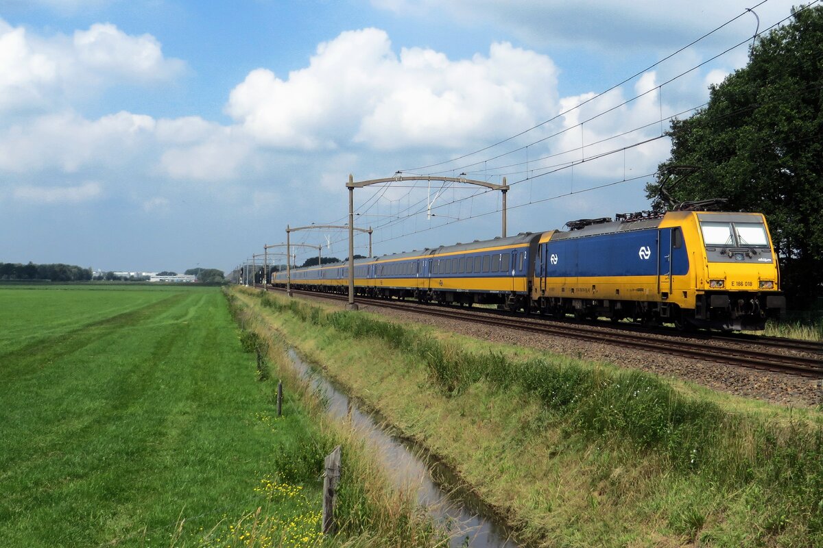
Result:
{"label": "large dark green leafy tree behind the locomotive at right", "polygon": [[[751,48],[746,67],[709,88],[709,104],[672,121],[661,182],[677,201],[728,199],[769,223],[793,306],[823,294],[823,7],[796,8]],[[689,166],[686,171],[678,171]]]}

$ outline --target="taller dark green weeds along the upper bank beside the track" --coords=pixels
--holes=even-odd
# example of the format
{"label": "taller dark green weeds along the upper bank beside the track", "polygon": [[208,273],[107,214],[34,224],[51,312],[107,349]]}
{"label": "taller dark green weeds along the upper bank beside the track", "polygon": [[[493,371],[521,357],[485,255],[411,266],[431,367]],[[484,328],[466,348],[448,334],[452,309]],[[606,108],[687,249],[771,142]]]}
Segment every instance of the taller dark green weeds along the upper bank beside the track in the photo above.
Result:
{"label": "taller dark green weeds along the upper bank beside the track", "polygon": [[[336,329],[355,339],[380,340],[414,356],[432,383],[459,398],[479,382],[496,390],[522,389],[548,413],[565,438],[579,437],[621,453],[659,458],[666,473],[692,478],[712,490],[758,486],[768,501],[763,523],[779,535],[791,523],[810,538],[823,538],[823,429],[788,426],[723,411],[708,400],[687,398],[641,371],[610,371],[563,357],[513,361],[500,353],[472,353],[441,343],[420,329],[346,311],[272,303],[297,320]],[[556,422],[554,422],[556,420]],[[591,502],[591,504],[594,504]],[[708,503],[707,503],[708,504]],[[683,509],[670,523],[695,541],[707,513]],[[795,520],[795,521],[790,521]]]}

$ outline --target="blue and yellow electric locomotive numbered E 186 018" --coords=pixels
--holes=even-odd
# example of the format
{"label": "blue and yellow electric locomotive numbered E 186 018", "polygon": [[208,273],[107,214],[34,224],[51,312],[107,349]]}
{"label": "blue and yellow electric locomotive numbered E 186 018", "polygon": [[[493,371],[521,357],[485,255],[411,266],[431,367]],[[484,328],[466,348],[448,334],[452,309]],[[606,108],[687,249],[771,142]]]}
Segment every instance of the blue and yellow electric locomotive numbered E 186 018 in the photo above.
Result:
{"label": "blue and yellow electric locomotive numbered E 186 018", "polygon": [[547,314],[763,329],[785,311],[762,214],[670,211],[544,233],[532,303]]}

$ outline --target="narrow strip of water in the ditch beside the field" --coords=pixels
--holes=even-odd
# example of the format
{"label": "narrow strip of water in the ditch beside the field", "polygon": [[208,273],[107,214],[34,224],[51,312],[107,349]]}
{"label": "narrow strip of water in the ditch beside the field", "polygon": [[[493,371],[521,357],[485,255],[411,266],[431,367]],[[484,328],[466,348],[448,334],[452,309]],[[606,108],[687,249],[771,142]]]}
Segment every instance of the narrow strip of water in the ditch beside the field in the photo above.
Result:
{"label": "narrow strip of water in the ditch beside the field", "polygon": [[417,501],[453,533],[450,546],[520,546],[509,538],[510,531],[495,518],[494,513],[467,490],[448,467],[412,441],[403,440],[387,431],[382,426],[382,417],[361,410],[337,385],[320,376],[296,352],[289,350],[288,354],[300,376],[323,394],[328,413],[332,417],[351,421],[356,431],[374,446],[394,485],[416,487]]}

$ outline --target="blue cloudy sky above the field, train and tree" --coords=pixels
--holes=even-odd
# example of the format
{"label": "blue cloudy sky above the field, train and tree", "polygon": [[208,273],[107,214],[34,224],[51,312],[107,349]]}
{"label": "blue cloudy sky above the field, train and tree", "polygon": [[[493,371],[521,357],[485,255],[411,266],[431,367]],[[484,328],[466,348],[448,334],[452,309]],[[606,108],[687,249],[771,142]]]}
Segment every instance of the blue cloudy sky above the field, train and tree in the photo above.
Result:
{"label": "blue cloudy sky above the field, train and tree", "polygon": [[[509,235],[646,210],[669,120],[792,5],[0,0],[0,262],[229,271],[346,224],[350,174],[506,177]],[[501,233],[484,187],[354,200],[375,255]]]}

